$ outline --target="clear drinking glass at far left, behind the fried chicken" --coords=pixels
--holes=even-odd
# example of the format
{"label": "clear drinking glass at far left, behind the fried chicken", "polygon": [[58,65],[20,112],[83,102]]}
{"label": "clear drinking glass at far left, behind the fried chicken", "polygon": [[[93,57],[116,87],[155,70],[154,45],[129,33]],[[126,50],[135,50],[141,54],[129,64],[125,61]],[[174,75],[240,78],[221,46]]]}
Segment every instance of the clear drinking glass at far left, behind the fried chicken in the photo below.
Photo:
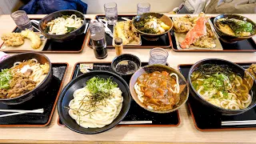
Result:
{"label": "clear drinking glass at far left, behind the fried chicken", "polygon": [[17,10],[14,13],[10,14],[10,17],[14,19],[14,22],[18,26],[19,30],[33,30],[30,18],[28,18],[26,15],[26,11]]}

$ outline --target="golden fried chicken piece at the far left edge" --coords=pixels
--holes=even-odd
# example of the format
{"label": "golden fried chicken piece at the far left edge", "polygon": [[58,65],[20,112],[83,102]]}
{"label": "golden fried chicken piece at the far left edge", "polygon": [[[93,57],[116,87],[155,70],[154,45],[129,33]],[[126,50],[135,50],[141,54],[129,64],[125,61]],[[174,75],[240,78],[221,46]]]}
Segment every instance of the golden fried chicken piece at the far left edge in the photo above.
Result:
{"label": "golden fried chicken piece at the far left edge", "polygon": [[20,46],[24,43],[24,38],[20,33],[2,34],[1,38],[6,46]]}

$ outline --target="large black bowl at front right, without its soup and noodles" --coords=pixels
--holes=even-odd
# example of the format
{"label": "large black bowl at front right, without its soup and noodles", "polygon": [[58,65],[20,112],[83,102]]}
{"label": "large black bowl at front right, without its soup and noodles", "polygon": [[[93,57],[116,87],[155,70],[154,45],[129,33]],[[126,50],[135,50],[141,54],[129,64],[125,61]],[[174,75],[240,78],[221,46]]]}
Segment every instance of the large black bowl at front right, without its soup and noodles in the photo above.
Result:
{"label": "large black bowl at front right, without its soup and noodles", "polygon": [[[210,102],[207,102],[204,98],[202,98],[198,92],[194,89],[194,87],[192,86],[192,82],[191,82],[191,74],[194,72],[194,70],[196,70],[198,68],[198,66],[201,66],[203,64],[217,64],[217,65],[226,65],[229,66],[235,74],[240,74],[241,77],[243,78],[245,75],[250,77],[251,82],[253,82],[253,86],[250,90],[250,94],[252,96],[252,102],[250,103],[250,106],[248,106],[246,109],[242,109],[242,110],[227,110],[227,109],[223,109],[221,107],[218,106],[214,106],[213,104],[211,104]],[[251,108],[253,108],[256,105],[256,81],[254,80],[254,78],[249,74],[249,72],[247,70],[245,70],[244,68],[242,68],[242,66],[238,66],[237,64],[233,63],[233,62],[229,62],[223,59],[217,59],[217,58],[210,58],[210,59],[203,59],[202,61],[196,62],[191,68],[190,68],[190,72],[188,75],[188,80],[190,83],[190,94],[192,94],[192,96],[198,100],[199,102],[201,102],[203,105],[210,107],[213,110],[216,110],[218,112],[220,112],[222,115],[236,115],[236,114],[242,114],[244,112],[246,112],[247,110],[250,110]]]}

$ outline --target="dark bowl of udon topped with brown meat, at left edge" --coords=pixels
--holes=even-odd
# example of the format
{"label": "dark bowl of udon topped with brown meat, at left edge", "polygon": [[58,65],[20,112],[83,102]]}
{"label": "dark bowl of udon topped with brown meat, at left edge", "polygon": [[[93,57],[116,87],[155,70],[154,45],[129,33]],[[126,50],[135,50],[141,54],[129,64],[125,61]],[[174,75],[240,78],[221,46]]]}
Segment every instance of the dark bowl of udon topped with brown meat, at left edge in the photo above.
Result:
{"label": "dark bowl of udon topped with brown meat, at left edge", "polygon": [[22,53],[0,62],[0,102],[18,105],[37,97],[52,79],[52,67],[44,54]]}

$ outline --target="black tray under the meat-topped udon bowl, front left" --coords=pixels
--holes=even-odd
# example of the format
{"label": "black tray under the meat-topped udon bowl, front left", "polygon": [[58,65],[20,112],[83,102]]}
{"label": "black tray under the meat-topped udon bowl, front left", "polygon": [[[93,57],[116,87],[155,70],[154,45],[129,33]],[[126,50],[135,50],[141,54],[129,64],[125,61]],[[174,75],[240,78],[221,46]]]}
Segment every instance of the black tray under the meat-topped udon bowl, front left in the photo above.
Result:
{"label": "black tray under the meat-topped udon bowl, front left", "polygon": [[[20,114],[0,118],[0,127],[42,127],[48,126],[54,114],[58,96],[62,90],[63,79],[66,74],[67,63],[52,63],[53,79],[46,91],[38,97],[15,106],[0,104],[4,110],[37,110],[44,109],[43,114]],[[0,112],[0,114],[11,114]]]}

